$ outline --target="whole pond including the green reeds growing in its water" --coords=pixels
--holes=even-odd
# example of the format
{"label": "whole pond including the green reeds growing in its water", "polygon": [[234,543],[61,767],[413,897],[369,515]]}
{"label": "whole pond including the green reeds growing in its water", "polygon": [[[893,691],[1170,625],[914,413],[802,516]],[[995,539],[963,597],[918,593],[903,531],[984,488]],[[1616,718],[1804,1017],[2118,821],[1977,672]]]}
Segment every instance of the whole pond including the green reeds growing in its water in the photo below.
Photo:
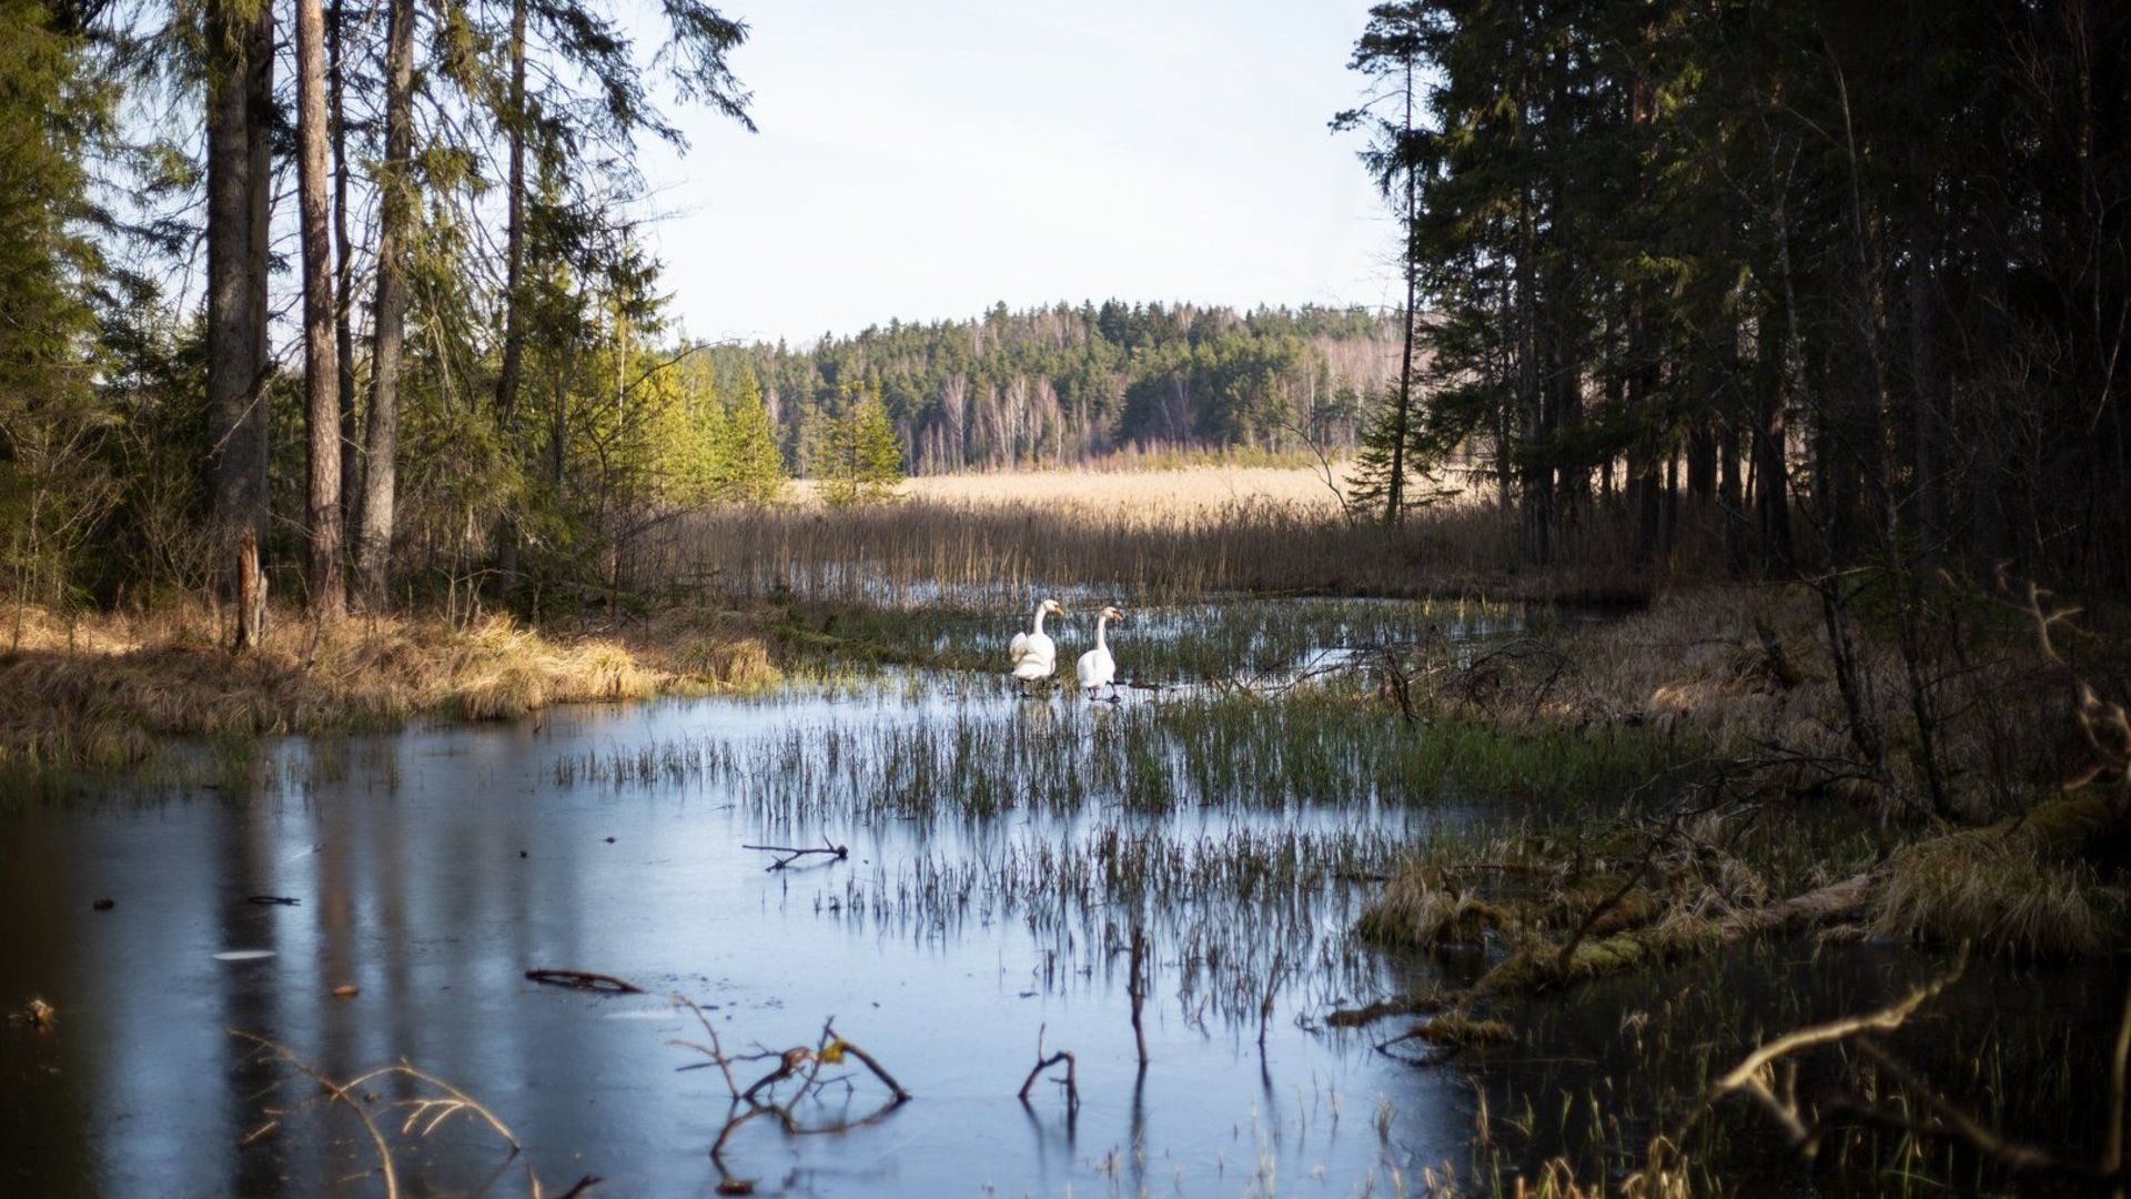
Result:
{"label": "whole pond including the green reeds growing in its water", "polygon": [[[381,1193],[349,1107],[239,1033],[332,1080],[407,1062],[524,1146],[471,1114],[424,1135],[439,1109],[396,1103],[437,1092],[373,1080],[352,1099],[405,1195],[526,1195],[528,1176],[546,1195],[586,1176],[599,1195],[710,1195],[727,1178],[761,1195],[1400,1195],[1468,1178],[1490,1107],[1545,1152],[1611,1169],[1677,1116],[1615,1097],[1639,1073],[1624,1045],[1694,1007],[1664,979],[1528,1013],[1526,1043],[1485,1060],[1379,1052],[1396,1028],[1323,1024],[1458,969],[1349,926],[1402,851],[1515,815],[1504,796],[1522,792],[1473,783],[1494,774],[1449,732],[1193,678],[1208,646],[1255,653],[1251,672],[1274,651],[1315,670],[1441,632],[1443,612],[1149,617],[1117,644],[1132,676],[1125,638],[1159,632],[1166,649],[1142,657],[1159,668],[1119,704],[891,668],[765,698],[286,738],[207,772],[219,781],[15,804],[0,1003],[40,996],[55,1024],[0,1030],[0,1193]],[[1453,636],[1515,627],[1466,617]],[[974,653],[1016,621],[985,623],[869,636]],[[774,868],[786,856],[757,845],[848,853]],[[539,969],[641,992],[543,986]],[[1935,966],[1877,954],[1828,973],[1805,947],[1709,969],[1760,981],[1698,984],[1711,998],[1681,1020],[1722,1028],[1698,1039],[1701,1077],[1764,1028],[1737,1024],[1737,996],[1769,977],[1839,979],[1775,1005],[1803,1020]],[[846,1058],[825,1069],[850,1086],[795,1116],[855,1126],[757,1120],[720,1171],[707,1150],[729,1088],[676,1043],[710,1033],[731,1054],[818,1045],[833,1018],[914,1099],[865,1120],[884,1090]],[[1076,1056],[1078,1109],[1055,1082],[1016,1099],[1038,1043]],[[774,1067],[733,1073],[746,1086]]]}

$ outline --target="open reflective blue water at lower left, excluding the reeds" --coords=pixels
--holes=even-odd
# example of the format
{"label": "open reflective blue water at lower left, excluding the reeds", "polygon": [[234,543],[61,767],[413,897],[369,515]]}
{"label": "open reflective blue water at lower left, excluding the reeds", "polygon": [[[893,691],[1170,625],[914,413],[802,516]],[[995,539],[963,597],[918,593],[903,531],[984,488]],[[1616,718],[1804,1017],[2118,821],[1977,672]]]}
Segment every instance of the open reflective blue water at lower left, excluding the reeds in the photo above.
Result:
{"label": "open reflective blue water at lower left, excluding the reeds", "polygon": [[[271,1088],[292,1073],[256,1062],[234,1028],[330,1077],[405,1058],[475,1094],[526,1146],[507,1158],[469,1118],[428,1139],[394,1135],[409,1195],[524,1195],[528,1165],[550,1195],[584,1173],[607,1180],[599,1195],[707,1195],[725,1086],[718,1071],[676,1069],[697,1058],[667,1041],[699,1030],[665,992],[714,1007],[729,1050],[812,1043],[833,1016],[916,1094],[842,1135],[752,1124],[729,1156],[763,1193],[1396,1193],[1394,1178],[1462,1152],[1462,1080],[1298,1028],[1321,992],[1279,996],[1262,1060],[1255,1024],[1178,994],[1187,962],[1157,937],[1153,1065],[1136,1086],[1123,954],[1100,917],[1036,930],[982,905],[946,920],[878,898],[914,862],[1070,843],[1100,813],[793,828],[750,815],[718,781],[599,787],[556,772],[635,745],[744,751],[957,704],[1038,710],[893,689],[554,710],[288,740],[247,798],[113,796],[0,817],[0,1003],[36,994],[58,1009],[49,1033],[0,1030],[0,1193],[381,1193],[360,1124],[305,1103],[309,1084]],[[1048,728],[1057,717],[1042,713]],[[1193,821],[1221,824],[1183,826]],[[742,849],[823,832],[852,860],[765,873],[765,856]],[[247,902],[264,894],[300,902]],[[876,896],[863,913],[850,902],[861,894]],[[94,911],[100,898],[115,907]],[[1210,915],[1249,937],[1253,913],[1230,917],[1217,900]],[[1311,915],[1328,930],[1345,917],[1343,905]],[[535,986],[533,966],[612,973],[652,994]],[[343,984],[360,994],[335,998]],[[1014,1101],[1040,1026],[1078,1052],[1074,1122],[1051,1086],[1034,1112]],[[742,1082],[761,1071],[739,1069]],[[388,1105],[411,1092],[390,1080],[369,1090],[396,1126]],[[869,1099],[861,1086],[852,1107]],[[277,1129],[239,1144],[275,1114]]]}

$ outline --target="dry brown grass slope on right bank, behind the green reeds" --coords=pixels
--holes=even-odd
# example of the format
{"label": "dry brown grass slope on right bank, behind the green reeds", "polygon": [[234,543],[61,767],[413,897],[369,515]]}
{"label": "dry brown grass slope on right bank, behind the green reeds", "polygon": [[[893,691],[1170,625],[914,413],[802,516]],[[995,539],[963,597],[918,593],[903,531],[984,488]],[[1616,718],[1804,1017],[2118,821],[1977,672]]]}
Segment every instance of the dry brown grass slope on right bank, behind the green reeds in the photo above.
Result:
{"label": "dry brown grass slope on right bank, behind the green reeds", "polygon": [[[1920,738],[1892,632],[1871,619],[1854,627],[1886,740],[1877,779],[1858,762],[1826,636],[1803,587],[1705,585],[1477,661],[1449,664],[1447,649],[1432,646],[1413,664],[1411,691],[1421,704],[1511,723],[1647,723],[1752,764],[1764,785],[1916,809]],[[1975,638],[1967,666],[1943,655],[1926,676],[1937,760],[1965,819],[2024,811],[2069,777],[2071,689],[2018,621]]]}

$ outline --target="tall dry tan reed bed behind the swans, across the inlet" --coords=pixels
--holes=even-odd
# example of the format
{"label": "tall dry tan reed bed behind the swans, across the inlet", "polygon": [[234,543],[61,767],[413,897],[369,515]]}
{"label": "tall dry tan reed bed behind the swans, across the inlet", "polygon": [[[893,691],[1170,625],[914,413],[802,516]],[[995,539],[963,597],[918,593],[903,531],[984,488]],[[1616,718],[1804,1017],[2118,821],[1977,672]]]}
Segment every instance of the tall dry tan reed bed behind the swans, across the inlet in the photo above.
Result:
{"label": "tall dry tan reed bed behind the swans, across the inlet", "polygon": [[1549,565],[1519,570],[1515,516],[1490,503],[1387,529],[1268,497],[1204,508],[904,499],[695,512],[633,548],[631,578],[886,606],[1016,604],[1036,593],[1129,604],[1223,593],[1643,602],[1669,572],[1624,565],[1630,544],[1624,523],[1592,518]]}

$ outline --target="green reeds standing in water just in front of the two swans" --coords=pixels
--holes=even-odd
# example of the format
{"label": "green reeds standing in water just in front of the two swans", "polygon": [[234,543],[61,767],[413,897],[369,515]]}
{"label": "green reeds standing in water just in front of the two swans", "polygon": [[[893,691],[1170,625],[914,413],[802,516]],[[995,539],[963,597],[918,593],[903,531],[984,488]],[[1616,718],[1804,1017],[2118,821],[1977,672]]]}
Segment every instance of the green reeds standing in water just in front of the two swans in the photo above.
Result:
{"label": "green reeds standing in water just in front of the two swans", "polygon": [[1611,804],[1692,742],[1654,730],[1406,725],[1366,693],[1311,687],[1157,702],[955,704],[916,719],[791,728],[759,742],[667,740],[556,764],[563,785],[718,787],[767,821],[1008,813],[1343,811],[1441,802]]}

